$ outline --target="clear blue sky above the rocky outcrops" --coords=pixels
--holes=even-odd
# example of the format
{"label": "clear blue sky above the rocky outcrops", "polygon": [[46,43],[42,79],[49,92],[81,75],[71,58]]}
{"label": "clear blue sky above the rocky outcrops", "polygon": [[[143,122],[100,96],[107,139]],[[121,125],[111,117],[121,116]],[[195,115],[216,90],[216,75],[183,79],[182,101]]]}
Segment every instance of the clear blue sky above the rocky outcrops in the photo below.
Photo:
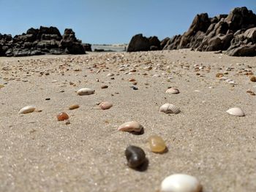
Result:
{"label": "clear blue sky above the rocky outcrops", "polygon": [[244,6],[256,13],[256,0],[0,0],[0,33],[56,26],[91,44],[128,43],[139,33],[161,40],[183,34],[197,13]]}

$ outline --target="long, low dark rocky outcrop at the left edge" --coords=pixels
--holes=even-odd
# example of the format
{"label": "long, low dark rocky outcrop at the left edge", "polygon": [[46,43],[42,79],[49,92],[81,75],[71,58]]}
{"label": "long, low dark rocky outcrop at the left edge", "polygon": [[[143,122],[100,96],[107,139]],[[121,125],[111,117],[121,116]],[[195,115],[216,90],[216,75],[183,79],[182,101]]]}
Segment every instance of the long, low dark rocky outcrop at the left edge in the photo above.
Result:
{"label": "long, low dark rocky outcrop at the left edge", "polygon": [[61,36],[56,27],[29,28],[26,34],[0,34],[0,56],[30,56],[44,54],[85,54],[82,42],[71,28]]}

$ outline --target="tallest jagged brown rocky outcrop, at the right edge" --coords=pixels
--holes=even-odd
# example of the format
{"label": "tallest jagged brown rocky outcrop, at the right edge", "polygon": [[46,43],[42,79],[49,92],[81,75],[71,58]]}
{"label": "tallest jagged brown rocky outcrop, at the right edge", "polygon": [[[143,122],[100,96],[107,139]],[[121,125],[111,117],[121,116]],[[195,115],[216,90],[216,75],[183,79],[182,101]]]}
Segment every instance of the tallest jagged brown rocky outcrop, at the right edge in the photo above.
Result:
{"label": "tallest jagged brown rocky outcrop, at the right edge", "polygon": [[255,53],[256,15],[246,7],[233,9],[229,15],[208,18],[196,15],[183,35],[161,42],[163,50],[191,48],[198,51],[227,50],[227,55],[252,56]]}

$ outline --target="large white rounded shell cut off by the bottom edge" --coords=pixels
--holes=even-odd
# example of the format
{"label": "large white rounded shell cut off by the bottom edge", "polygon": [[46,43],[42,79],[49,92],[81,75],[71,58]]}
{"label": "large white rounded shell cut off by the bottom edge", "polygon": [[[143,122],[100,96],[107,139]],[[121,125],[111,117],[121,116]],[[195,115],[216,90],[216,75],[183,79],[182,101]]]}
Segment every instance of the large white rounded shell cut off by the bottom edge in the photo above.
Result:
{"label": "large white rounded shell cut off by the bottom edge", "polygon": [[172,174],[161,184],[161,192],[200,192],[202,185],[188,174]]}

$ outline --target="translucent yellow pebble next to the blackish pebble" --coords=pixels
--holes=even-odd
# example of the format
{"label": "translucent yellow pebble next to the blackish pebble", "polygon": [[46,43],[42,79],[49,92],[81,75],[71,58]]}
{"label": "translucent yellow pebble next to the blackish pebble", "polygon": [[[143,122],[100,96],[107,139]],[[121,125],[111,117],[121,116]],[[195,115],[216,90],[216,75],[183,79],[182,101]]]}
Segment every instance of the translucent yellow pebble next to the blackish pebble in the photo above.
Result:
{"label": "translucent yellow pebble next to the blackish pebble", "polygon": [[152,135],[148,138],[148,143],[150,150],[154,153],[163,153],[165,152],[166,145],[165,141],[162,139],[162,137],[159,137],[157,135]]}

